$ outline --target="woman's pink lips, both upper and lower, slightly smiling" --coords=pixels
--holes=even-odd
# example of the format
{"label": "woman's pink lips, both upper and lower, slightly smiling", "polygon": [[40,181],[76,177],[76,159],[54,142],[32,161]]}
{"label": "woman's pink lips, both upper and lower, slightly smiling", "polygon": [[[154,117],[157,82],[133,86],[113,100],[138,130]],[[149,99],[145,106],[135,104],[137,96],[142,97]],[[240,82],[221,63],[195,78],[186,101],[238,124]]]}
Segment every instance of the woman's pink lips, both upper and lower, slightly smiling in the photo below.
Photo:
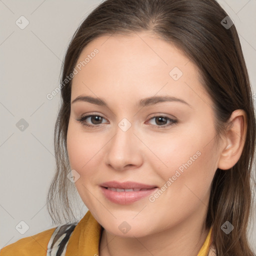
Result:
{"label": "woman's pink lips, both upper and lower, slightly smiling", "polygon": [[[140,191],[112,191],[107,189],[107,187],[114,187],[114,188],[122,188],[122,189],[129,189],[129,188],[146,188],[147,190],[140,190]],[[118,204],[130,204],[134,201],[142,199],[156,189],[158,189],[155,185],[147,185],[132,181],[126,182],[117,182],[117,181],[109,181],[100,184],[100,188],[102,193],[105,197],[110,200],[111,202],[118,203]]]}

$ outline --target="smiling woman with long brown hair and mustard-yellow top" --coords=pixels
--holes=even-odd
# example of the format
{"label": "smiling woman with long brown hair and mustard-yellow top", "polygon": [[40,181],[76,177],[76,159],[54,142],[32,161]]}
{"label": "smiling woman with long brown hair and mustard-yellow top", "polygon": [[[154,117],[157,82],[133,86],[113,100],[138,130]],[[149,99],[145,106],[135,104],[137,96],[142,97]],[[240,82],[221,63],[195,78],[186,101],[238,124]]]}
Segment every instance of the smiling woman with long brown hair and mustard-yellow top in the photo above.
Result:
{"label": "smiling woman with long brown hair and mustard-yellow top", "polygon": [[71,185],[89,211],[0,255],[255,255],[255,114],[216,1],[102,2],[74,33],[59,87],[48,209],[71,219]]}

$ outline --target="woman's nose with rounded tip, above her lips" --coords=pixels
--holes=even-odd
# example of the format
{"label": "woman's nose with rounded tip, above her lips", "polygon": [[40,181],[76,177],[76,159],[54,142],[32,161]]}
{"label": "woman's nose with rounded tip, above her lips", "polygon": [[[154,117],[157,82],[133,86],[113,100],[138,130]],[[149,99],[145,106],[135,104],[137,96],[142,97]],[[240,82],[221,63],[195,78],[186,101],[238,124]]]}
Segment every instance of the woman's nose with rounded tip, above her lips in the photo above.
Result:
{"label": "woman's nose with rounded tip, above her lips", "polygon": [[134,134],[133,125],[126,131],[120,127],[116,125],[115,134],[106,144],[105,164],[115,170],[139,167],[143,161],[143,143]]}

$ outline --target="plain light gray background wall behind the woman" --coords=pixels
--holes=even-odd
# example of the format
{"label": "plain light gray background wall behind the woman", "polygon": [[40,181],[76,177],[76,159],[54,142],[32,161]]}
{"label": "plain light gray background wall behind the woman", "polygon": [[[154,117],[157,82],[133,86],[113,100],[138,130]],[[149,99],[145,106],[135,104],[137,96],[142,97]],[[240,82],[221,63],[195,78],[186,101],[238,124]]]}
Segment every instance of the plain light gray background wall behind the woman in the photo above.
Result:
{"label": "plain light gray background wall behind the woman", "polygon": [[[60,94],[51,100],[46,94],[59,84],[72,34],[100,2],[0,0],[0,247],[53,227],[45,203],[55,168],[53,128]],[[218,2],[238,30],[255,99],[256,0]],[[29,21],[24,29],[15,23],[22,15]],[[21,118],[28,123],[23,131],[16,126]],[[81,217],[87,208],[79,203]],[[256,251],[253,222],[248,236]]]}

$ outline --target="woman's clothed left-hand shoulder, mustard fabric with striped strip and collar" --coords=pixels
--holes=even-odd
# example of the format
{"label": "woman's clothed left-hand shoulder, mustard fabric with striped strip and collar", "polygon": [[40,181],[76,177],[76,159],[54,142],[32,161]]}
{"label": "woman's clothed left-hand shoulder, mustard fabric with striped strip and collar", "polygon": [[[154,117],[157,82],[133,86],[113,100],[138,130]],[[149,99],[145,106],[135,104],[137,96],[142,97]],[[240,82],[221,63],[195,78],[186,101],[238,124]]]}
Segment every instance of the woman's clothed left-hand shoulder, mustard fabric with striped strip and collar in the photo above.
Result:
{"label": "woman's clothed left-hand shoulder, mustard fabric with striped strip and collar", "polygon": [[[62,256],[66,251],[72,255],[74,249],[84,251],[92,247],[96,251],[100,232],[100,224],[88,211],[79,222],[58,225],[3,247],[0,256]],[[85,238],[83,242],[80,236]]]}

